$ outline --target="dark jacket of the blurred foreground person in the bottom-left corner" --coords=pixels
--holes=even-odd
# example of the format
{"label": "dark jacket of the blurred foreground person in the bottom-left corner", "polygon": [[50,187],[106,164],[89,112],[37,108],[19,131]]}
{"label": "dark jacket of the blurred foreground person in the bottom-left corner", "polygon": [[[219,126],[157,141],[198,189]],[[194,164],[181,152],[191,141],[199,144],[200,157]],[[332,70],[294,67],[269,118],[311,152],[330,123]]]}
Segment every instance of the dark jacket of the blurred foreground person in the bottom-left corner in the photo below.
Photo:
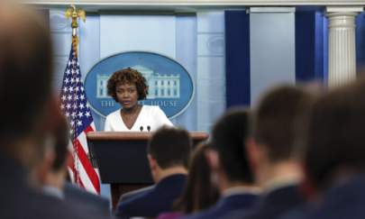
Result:
{"label": "dark jacket of the blurred foreground person in the bottom-left corner", "polygon": [[27,171],[14,160],[0,155],[0,218],[6,219],[82,219],[77,205],[69,205],[53,196],[29,187]]}

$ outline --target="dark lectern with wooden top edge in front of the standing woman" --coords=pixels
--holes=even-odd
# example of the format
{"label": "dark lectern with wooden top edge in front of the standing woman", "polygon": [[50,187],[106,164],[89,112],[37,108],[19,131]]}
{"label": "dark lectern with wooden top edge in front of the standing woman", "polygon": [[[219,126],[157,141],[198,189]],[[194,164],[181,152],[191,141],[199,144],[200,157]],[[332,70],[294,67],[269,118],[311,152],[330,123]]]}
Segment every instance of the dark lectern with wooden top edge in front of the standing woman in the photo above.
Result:
{"label": "dark lectern with wooden top edge in front of the standing woman", "polygon": [[[153,184],[147,160],[151,132],[88,132],[87,145],[103,183],[111,184],[113,209],[123,193]],[[205,132],[190,132],[193,144],[208,138]],[[171,147],[173,147],[173,142]]]}

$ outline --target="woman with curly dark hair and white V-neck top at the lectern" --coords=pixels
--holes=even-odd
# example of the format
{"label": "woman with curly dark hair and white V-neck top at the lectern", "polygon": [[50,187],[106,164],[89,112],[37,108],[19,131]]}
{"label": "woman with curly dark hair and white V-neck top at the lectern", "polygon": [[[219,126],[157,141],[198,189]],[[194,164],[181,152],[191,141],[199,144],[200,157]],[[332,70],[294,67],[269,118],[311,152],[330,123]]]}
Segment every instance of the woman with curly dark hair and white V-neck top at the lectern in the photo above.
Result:
{"label": "woman with curly dark hair and white V-neck top at the lectern", "polygon": [[148,95],[146,78],[138,70],[114,72],[107,82],[107,93],[122,107],[106,116],[105,131],[153,132],[162,125],[173,125],[160,106],[138,104]]}

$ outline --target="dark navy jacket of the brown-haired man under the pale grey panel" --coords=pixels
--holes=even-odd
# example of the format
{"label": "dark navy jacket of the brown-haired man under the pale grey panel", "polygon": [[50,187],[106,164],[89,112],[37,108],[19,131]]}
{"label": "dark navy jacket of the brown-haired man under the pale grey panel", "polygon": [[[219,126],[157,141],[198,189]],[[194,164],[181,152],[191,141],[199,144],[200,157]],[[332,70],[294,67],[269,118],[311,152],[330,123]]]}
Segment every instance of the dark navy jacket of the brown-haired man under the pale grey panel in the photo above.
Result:
{"label": "dark navy jacket of the brown-haired man under the pale grey panel", "polygon": [[276,219],[304,202],[297,186],[279,187],[262,196],[250,212],[236,212],[230,218]]}

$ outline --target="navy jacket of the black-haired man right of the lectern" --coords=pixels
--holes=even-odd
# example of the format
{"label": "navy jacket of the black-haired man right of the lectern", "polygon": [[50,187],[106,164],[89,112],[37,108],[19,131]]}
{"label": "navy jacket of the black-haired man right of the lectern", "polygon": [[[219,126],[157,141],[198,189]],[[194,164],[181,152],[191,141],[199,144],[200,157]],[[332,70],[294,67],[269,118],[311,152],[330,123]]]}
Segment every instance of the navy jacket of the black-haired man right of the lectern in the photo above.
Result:
{"label": "navy jacket of the black-haired man right of the lectern", "polygon": [[251,206],[257,200],[257,198],[258,198],[257,195],[252,195],[252,194],[224,196],[213,207],[200,213],[187,215],[184,218],[185,219],[221,218],[224,217],[224,215],[230,214],[231,212],[238,209],[242,210],[250,209]]}

